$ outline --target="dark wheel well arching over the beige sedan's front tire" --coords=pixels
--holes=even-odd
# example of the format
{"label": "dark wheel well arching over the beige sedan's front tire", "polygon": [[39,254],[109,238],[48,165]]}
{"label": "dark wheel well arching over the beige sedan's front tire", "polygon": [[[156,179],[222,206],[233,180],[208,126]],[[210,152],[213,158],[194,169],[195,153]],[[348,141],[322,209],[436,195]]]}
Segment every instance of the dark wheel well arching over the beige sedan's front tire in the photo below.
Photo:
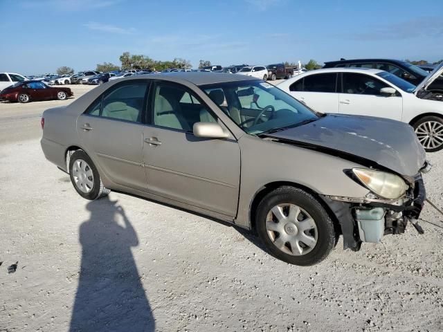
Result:
{"label": "dark wheel well arching over the beige sedan's front tire", "polygon": [[296,187],[298,189],[305,190],[305,192],[314,196],[318,200],[318,203],[320,203],[323,206],[323,208],[325,209],[327,214],[329,214],[329,217],[331,218],[332,222],[334,223],[334,228],[335,228],[336,232],[341,234],[340,222],[338,221],[336,215],[332,212],[332,210],[329,208],[329,206],[327,206],[325,201],[323,201],[323,199],[321,199],[320,196],[316,192],[314,192],[314,190],[311,190],[311,188],[305,187],[304,185],[300,185],[298,183],[293,183],[293,182],[287,182],[287,181],[278,181],[278,182],[268,183],[267,185],[264,185],[264,187],[262,187],[255,194],[254,199],[251,203],[251,207],[249,208],[249,219],[251,221],[251,230],[255,231],[255,217],[256,217],[257,208],[258,208],[258,205],[260,204],[260,201],[262,201],[264,196],[269,194],[269,192],[272,192],[273,190],[277,189],[278,187],[283,187],[283,186]]}

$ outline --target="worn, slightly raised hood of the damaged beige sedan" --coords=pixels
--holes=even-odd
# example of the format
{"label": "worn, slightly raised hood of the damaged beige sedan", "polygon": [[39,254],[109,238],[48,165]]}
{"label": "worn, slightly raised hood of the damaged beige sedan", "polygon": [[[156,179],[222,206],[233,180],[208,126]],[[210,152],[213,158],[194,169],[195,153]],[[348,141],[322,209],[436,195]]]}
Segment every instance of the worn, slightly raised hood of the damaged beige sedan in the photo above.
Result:
{"label": "worn, slightly raised hood of the damaged beige sedan", "polygon": [[[426,154],[413,128],[404,122],[368,116],[328,114],[314,122],[267,136],[318,149],[334,156],[363,160],[401,174],[415,176]],[[375,165],[375,166],[377,166]]]}

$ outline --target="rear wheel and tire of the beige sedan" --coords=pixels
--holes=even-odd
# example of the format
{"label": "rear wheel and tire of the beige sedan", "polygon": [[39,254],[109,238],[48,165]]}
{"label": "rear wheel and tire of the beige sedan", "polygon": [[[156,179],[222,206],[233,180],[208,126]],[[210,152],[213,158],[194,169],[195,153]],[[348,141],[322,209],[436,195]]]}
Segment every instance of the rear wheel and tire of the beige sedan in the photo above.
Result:
{"label": "rear wheel and tire of the beige sedan", "polygon": [[101,199],[111,192],[103,185],[96,166],[83,150],[75,151],[69,158],[69,176],[75,191],[84,199]]}

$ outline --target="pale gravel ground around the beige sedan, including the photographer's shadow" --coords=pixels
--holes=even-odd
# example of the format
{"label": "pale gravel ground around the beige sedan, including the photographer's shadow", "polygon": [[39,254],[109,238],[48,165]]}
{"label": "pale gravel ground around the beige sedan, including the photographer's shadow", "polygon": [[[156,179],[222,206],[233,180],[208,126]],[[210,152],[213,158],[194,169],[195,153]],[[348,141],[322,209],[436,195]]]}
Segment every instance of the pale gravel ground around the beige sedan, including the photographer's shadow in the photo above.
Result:
{"label": "pale gravel ground around the beige sedan, including the photographer's shadow", "polygon": [[[54,103],[0,103],[0,331],[443,331],[443,216],[430,205],[424,235],[359,252],[340,241],[321,264],[291,266],[202,216],[82,199],[33,127]],[[428,159],[442,208],[443,153]]]}

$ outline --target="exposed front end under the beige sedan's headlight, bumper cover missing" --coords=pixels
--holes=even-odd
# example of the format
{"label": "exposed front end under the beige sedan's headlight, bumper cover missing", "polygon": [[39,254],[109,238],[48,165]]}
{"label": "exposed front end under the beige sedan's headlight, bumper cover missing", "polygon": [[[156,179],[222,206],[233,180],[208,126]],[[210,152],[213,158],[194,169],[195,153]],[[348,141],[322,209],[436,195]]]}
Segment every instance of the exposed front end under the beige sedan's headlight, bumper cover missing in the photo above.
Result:
{"label": "exposed front end under the beige sedan's headlight, bumper cover missing", "polygon": [[[408,191],[404,199],[399,201],[352,199],[325,195],[321,198],[334,214],[336,223],[340,225],[343,234],[343,247],[359,250],[363,241],[379,242],[383,234],[403,233],[408,221],[417,228],[417,219],[419,219],[426,200],[426,190],[422,176],[418,174],[415,176],[413,188]],[[372,234],[379,233],[380,230],[380,235],[368,238],[363,234],[359,212],[372,212],[380,209],[384,212],[381,219],[371,219],[370,223],[365,223],[365,230],[372,232],[371,228],[377,228],[377,231]]]}

